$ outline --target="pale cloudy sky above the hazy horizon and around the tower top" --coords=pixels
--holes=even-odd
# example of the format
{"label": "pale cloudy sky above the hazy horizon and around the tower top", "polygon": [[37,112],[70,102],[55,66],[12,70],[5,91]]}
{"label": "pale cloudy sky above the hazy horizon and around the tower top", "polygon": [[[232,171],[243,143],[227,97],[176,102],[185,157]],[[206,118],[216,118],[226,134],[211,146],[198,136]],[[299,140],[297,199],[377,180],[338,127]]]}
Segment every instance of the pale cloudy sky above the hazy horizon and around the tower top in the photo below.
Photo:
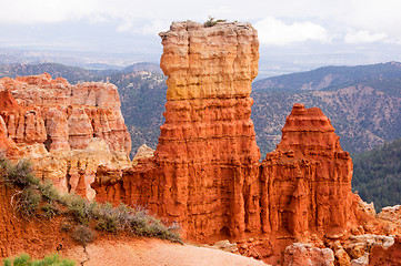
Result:
{"label": "pale cloudy sky above the hazy horizon and around the tower top", "polygon": [[400,0],[0,0],[0,48],[160,58],[172,21],[249,21],[261,64],[401,61]]}

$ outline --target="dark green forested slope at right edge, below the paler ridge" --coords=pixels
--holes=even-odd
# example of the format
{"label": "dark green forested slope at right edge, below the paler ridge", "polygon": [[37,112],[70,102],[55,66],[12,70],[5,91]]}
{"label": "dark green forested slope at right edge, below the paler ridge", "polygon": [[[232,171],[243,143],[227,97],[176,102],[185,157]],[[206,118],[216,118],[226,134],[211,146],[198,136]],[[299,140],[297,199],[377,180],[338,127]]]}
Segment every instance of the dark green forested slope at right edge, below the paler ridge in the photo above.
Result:
{"label": "dark green forested slope at right edge, below the paler ridge", "polygon": [[352,155],[352,190],[377,211],[401,204],[401,139]]}

